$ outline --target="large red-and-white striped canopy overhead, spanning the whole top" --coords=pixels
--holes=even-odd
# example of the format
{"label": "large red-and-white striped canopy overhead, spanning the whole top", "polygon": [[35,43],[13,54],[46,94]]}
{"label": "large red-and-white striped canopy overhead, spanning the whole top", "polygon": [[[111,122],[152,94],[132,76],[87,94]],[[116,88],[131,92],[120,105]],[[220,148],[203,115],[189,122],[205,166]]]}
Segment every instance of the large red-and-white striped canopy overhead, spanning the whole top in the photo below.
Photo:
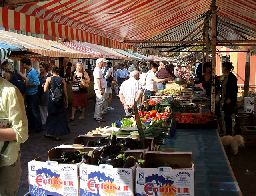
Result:
{"label": "large red-and-white striped canopy overhead, spanning the whole top", "polygon": [[[115,49],[132,45],[150,51],[180,51],[205,42],[206,22],[211,36],[213,3],[218,45],[256,50],[254,0],[4,0],[0,26]],[[230,40],[244,41],[244,45]]]}

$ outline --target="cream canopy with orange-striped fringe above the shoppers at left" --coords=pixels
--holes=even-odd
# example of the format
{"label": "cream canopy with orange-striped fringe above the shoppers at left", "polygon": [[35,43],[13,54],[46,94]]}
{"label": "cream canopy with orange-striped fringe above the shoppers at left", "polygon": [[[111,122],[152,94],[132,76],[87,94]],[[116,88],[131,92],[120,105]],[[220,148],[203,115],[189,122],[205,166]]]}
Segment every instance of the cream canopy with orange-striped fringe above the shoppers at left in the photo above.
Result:
{"label": "cream canopy with orange-striped fringe above the shoppers at left", "polygon": [[0,42],[12,42],[27,48],[27,53],[20,53],[17,56],[10,56],[11,59],[20,59],[24,56],[30,59],[44,59],[49,57],[64,58],[92,58],[92,54],[74,51],[58,42],[34,38],[22,34],[16,34],[0,30]]}

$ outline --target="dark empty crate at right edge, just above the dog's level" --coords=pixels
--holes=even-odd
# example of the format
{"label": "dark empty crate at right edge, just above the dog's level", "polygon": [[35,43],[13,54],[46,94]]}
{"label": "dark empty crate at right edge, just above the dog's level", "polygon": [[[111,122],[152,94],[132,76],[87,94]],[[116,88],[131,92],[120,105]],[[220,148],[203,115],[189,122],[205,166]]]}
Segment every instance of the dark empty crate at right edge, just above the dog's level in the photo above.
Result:
{"label": "dark empty crate at right edge, just above the dog's level", "polygon": [[240,126],[245,145],[256,145],[256,126]]}

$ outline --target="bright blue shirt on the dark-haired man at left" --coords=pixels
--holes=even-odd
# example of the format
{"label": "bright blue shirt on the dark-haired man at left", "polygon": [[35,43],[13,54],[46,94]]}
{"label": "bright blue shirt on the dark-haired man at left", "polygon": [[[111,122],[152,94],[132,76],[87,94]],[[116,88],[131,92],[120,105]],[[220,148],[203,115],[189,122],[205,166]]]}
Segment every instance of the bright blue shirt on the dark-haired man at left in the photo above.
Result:
{"label": "bright blue shirt on the dark-haired man at left", "polygon": [[36,86],[35,87],[28,87],[26,93],[28,95],[34,95],[38,92],[38,86],[40,85],[40,81],[39,81],[39,77],[38,77],[38,73],[36,71],[36,69],[34,69],[33,67],[28,71],[27,75],[26,75],[29,79],[28,84],[32,84],[34,83]]}

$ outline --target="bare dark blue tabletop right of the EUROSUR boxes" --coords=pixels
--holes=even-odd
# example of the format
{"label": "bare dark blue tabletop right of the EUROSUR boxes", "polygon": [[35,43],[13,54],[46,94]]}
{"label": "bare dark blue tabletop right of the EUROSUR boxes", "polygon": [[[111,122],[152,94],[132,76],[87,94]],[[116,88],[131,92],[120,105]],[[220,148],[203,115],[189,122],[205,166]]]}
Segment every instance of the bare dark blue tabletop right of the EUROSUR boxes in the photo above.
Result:
{"label": "bare dark blue tabletop right of the EUROSUR boxes", "polygon": [[193,152],[196,196],[242,195],[215,129],[177,129],[158,151]]}

